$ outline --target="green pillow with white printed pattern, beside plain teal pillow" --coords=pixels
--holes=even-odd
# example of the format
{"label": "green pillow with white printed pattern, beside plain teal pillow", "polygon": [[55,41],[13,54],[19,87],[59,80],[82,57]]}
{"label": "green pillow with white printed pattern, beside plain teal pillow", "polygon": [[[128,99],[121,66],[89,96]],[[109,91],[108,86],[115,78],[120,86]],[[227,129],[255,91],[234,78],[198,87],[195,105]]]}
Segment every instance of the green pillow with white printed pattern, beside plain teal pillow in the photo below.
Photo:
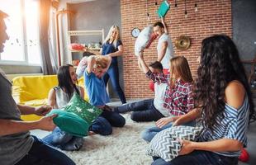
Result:
{"label": "green pillow with white printed pattern, beside plain teal pillow", "polygon": [[68,105],[64,107],[64,111],[77,114],[83,120],[86,120],[89,125],[92,125],[93,120],[102,114],[101,109],[96,106],[92,106],[87,101],[84,101],[76,92],[73,94]]}

